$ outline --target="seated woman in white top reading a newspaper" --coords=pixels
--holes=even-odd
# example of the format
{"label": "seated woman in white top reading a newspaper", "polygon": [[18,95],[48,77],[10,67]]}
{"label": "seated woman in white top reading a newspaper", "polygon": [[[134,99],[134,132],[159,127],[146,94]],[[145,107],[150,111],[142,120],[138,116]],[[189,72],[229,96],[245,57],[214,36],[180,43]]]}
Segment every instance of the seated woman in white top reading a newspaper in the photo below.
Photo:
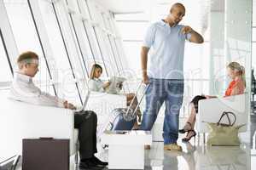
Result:
{"label": "seated woman in white top reading a newspaper", "polygon": [[[89,89],[91,91],[96,92],[105,92],[106,89],[110,86],[111,82],[103,82],[100,77],[102,76],[102,66],[98,64],[92,65],[91,71],[90,71],[90,79],[88,82]],[[120,88],[122,85],[120,85]],[[134,98],[135,94],[125,94],[126,100],[127,100],[127,106],[131,104],[131,100]],[[135,109],[137,106],[137,97],[134,99],[133,105],[131,105],[132,109]],[[138,116],[138,122],[141,122],[141,116],[142,113],[140,109],[137,110],[137,116]],[[138,125],[137,123],[133,127],[133,129],[137,129]]]}

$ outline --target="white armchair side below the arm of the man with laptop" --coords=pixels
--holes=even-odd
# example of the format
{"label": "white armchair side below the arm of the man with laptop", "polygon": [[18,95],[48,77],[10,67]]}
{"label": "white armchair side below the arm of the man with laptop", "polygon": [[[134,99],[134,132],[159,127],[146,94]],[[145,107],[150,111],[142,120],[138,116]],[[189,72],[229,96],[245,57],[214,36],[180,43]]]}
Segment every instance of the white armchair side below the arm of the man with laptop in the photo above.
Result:
{"label": "white armchair side below the arm of the man with laptop", "polygon": [[73,111],[11,99],[2,101],[0,154],[21,155],[22,139],[40,137],[70,139],[73,153]]}

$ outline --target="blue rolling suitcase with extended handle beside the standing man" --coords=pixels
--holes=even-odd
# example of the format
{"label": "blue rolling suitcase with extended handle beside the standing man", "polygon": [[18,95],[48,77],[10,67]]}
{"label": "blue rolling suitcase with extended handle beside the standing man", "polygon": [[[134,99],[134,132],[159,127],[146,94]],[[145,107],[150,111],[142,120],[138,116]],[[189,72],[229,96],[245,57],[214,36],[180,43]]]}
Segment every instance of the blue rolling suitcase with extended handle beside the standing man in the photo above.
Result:
{"label": "blue rolling suitcase with extended handle beside the standing man", "polygon": [[141,104],[144,95],[146,94],[146,91],[148,89],[148,85],[146,88],[144,88],[143,95],[141,99],[139,99],[138,104],[136,108],[133,110],[131,106],[133,105],[133,102],[135,101],[135,98],[137,96],[137,93],[139,89],[141,88],[143,82],[141,82],[137,88],[137,92],[134,96],[134,98],[131,100],[131,104],[128,108],[117,108],[114,109],[109,116],[107,126],[105,130],[131,130],[134,126],[135,122],[137,121],[137,115],[136,112],[139,108],[139,105]]}

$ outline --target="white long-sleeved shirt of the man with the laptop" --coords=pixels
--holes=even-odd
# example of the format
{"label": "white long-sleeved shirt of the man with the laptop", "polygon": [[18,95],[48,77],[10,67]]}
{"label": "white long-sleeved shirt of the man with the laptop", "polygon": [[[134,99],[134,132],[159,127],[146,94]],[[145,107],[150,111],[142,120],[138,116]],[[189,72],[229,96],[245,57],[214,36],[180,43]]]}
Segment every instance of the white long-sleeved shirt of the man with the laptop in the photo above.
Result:
{"label": "white long-sleeved shirt of the man with the laptop", "polygon": [[65,102],[64,99],[42,92],[40,88],[35,86],[32,82],[32,77],[19,72],[15,73],[9,92],[9,99],[15,99],[33,105],[48,105],[55,107],[64,107],[63,103]]}

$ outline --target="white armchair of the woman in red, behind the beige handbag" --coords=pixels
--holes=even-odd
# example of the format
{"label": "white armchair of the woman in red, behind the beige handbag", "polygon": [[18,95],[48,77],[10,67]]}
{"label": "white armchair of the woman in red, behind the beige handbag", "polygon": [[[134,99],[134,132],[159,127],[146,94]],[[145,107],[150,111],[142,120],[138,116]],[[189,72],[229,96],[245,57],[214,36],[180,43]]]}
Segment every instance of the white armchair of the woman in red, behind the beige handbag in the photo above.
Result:
{"label": "white armchair of the woman in red, behind the beige handbag", "polygon": [[[223,98],[203,99],[198,104],[197,125],[200,133],[209,131],[206,122],[218,122],[224,111],[234,112],[236,115],[235,125],[248,124],[249,102],[247,94],[234,95]],[[227,121],[224,119],[224,122]],[[240,132],[247,131],[247,126],[241,127]]]}

